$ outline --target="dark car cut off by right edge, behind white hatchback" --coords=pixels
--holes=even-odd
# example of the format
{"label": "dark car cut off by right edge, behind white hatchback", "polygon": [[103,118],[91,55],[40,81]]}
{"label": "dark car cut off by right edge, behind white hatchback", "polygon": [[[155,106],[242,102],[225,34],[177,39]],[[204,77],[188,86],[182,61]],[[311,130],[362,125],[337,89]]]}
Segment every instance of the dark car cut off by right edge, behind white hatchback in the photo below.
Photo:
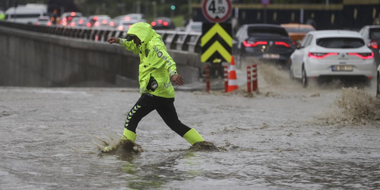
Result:
{"label": "dark car cut off by right edge, behind white hatchback", "polygon": [[379,65],[380,53],[378,45],[380,43],[380,25],[364,26],[359,33],[363,37],[364,43],[374,52],[376,64]]}

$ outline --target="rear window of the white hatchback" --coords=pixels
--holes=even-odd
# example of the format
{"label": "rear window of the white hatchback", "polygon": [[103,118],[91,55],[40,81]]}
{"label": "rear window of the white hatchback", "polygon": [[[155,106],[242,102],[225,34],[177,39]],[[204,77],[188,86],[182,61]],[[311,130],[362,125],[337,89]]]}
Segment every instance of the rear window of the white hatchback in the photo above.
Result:
{"label": "rear window of the white hatchback", "polygon": [[319,38],[317,45],[326,48],[358,48],[364,46],[361,38]]}

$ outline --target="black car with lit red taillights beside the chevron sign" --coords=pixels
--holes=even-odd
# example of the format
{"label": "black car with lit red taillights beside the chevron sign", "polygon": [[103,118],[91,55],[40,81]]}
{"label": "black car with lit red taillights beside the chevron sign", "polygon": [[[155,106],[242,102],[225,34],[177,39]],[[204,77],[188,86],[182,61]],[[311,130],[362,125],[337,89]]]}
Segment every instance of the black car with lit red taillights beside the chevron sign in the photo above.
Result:
{"label": "black car with lit red taillights beside the chevron sign", "polygon": [[286,65],[295,49],[285,28],[272,24],[242,25],[234,37],[234,46],[239,67],[246,58]]}

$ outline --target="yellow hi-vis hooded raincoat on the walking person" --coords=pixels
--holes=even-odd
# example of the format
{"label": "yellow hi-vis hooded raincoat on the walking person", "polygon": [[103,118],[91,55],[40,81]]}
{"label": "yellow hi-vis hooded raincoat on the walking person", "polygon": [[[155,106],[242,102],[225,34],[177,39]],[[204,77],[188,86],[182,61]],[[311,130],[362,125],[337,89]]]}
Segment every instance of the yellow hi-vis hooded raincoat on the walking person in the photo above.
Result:
{"label": "yellow hi-vis hooded raincoat on the walking person", "polygon": [[[136,45],[133,40],[120,39],[119,44],[125,49],[140,55],[139,84],[140,94],[150,93],[163,98],[174,98],[174,88],[170,77],[177,74],[176,63],[170,57],[166,46],[159,34],[147,23],[133,24],[127,35],[136,35],[141,40],[141,45]],[[149,79],[153,77],[157,81],[157,88],[147,90]]]}

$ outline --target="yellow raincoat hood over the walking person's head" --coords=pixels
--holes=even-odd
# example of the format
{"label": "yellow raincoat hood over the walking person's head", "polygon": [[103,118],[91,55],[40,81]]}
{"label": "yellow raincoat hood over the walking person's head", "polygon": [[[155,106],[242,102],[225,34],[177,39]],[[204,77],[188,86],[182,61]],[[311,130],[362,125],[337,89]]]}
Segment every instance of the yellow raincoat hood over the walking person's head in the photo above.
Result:
{"label": "yellow raincoat hood over the walking person's head", "polygon": [[144,22],[138,22],[128,29],[127,35],[133,34],[136,35],[141,42],[149,41],[156,32],[152,29],[150,24]]}

